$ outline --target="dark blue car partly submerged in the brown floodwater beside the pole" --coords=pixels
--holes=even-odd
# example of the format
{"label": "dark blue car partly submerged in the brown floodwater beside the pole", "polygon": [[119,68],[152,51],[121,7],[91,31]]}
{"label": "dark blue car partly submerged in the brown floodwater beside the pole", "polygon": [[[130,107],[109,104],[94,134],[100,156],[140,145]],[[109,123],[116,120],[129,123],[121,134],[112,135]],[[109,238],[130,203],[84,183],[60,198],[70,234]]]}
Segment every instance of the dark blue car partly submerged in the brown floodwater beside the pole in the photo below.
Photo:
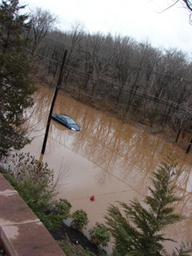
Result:
{"label": "dark blue car partly submerged in the brown floodwater beside the pole", "polygon": [[60,124],[65,125],[65,127],[68,127],[68,129],[72,129],[72,131],[81,131],[81,127],[79,127],[79,125],[75,120],[71,118],[71,116],[55,113],[52,114],[52,119]]}

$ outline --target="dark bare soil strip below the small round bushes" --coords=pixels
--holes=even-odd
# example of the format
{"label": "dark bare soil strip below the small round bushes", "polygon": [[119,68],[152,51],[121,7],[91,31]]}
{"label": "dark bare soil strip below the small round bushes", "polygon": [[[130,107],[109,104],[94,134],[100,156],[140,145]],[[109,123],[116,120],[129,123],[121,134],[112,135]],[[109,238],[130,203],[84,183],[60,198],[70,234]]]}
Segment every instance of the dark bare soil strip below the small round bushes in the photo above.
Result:
{"label": "dark bare soil strip below the small round bushes", "polygon": [[[94,255],[100,255],[97,244],[92,243],[91,241],[89,241],[89,239],[87,239],[87,236],[84,236],[83,233],[74,228],[68,227],[68,225],[65,225],[65,223],[63,223],[62,227],[51,231],[51,234],[57,241],[63,240],[66,238],[66,236],[68,236],[71,244],[81,244],[81,247],[84,247],[84,249],[88,249],[89,252],[92,252]],[[103,253],[107,255],[104,250]]]}

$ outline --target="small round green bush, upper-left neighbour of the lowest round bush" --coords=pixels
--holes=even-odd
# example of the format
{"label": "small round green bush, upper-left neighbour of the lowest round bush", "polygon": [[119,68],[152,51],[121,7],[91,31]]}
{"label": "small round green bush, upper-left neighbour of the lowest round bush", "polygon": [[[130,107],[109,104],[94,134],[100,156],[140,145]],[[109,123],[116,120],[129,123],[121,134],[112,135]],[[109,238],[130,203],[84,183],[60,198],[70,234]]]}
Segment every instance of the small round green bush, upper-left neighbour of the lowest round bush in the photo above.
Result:
{"label": "small round green bush, upper-left neighbour of the lowest round bush", "polygon": [[71,222],[71,227],[76,228],[79,231],[83,231],[86,227],[87,223],[89,222],[87,213],[83,209],[78,209],[71,215],[73,220]]}

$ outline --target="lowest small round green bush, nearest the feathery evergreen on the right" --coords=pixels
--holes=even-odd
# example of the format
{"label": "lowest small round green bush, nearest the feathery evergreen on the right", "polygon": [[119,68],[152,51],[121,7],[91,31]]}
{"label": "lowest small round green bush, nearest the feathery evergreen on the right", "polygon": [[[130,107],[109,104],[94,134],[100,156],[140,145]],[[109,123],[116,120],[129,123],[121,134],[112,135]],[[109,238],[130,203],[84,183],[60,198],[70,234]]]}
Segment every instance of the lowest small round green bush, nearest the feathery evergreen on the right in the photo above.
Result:
{"label": "lowest small round green bush, nearest the feathery evergreen on the right", "polygon": [[110,241],[110,232],[108,228],[102,223],[96,225],[89,230],[90,240],[95,244],[101,244],[103,247],[108,245]]}

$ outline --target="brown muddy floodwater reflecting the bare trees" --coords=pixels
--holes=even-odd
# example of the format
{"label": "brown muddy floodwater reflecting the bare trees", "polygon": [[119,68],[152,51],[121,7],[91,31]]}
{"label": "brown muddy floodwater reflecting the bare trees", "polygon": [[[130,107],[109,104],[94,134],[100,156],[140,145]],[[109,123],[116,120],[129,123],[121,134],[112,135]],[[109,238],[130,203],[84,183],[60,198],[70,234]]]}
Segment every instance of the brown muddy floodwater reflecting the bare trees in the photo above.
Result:
{"label": "brown muddy floodwater reflecting the bare trees", "polygon": [[[31,110],[29,127],[33,141],[23,151],[29,151],[37,159],[41,154],[53,93],[52,88],[39,87],[36,104]],[[43,161],[55,170],[55,177],[59,176],[57,197],[68,199],[73,211],[84,209],[87,212],[88,230],[96,222],[104,221],[109,204],[143,199],[148,193],[151,171],[172,152],[178,166],[185,169],[177,180],[183,199],[176,208],[187,218],[166,233],[177,241],[191,240],[191,153],[186,154],[175,144],[83,105],[61,91],[53,112],[73,117],[82,130],[73,132],[52,120]],[[92,195],[95,201],[89,200]]]}

